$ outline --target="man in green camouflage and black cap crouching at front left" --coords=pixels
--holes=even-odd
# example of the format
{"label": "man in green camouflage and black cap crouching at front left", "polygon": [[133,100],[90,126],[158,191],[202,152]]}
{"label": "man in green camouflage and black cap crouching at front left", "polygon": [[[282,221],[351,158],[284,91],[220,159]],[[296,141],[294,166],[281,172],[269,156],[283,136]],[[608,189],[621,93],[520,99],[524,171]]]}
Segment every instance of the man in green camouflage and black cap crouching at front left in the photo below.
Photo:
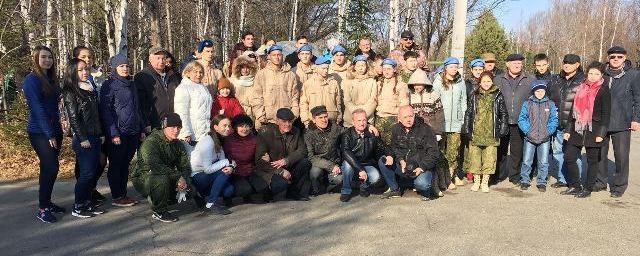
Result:
{"label": "man in green camouflage and black cap crouching at front left", "polygon": [[152,217],[162,222],[178,221],[168,207],[176,202],[176,195],[184,195],[180,199],[186,199],[185,193],[193,191],[187,184],[191,174],[189,156],[178,140],[181,128],[180,116],[167,114],[162,120],[162,130],[147,137],[140,147],[137,164],[132,166],[134,188],[149,199]]}

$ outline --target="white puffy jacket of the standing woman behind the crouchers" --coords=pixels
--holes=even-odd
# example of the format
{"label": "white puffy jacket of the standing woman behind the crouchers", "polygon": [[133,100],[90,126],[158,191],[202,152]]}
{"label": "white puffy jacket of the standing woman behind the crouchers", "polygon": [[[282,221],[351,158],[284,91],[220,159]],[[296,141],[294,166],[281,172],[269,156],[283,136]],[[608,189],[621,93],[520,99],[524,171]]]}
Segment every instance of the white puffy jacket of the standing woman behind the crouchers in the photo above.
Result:
{"label": "white puffy jacket of the standing woman behind the crouchers", "polygon": [[182,130],[178,137],[191,137],[195,141],[205,137],[210,130],[212,105],[213,99],[207,87],[189,78],[182,78],[173,100],[173,109],[182,119]]}

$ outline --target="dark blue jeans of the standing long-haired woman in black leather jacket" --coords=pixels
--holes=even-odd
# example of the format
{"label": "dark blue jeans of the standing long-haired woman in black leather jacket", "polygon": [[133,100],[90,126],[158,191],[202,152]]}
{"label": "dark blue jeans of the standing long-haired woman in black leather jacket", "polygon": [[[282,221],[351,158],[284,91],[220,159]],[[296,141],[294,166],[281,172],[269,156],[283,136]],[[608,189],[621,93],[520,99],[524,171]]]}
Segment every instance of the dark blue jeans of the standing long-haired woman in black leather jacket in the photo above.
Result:
{"label": "dark blue jeans of the standing long-haired woman in black leather jacket", "polygon": [[74,136],[71,141],[73,151],[76,153],[76,186],[74,189],[76,197],[76,205],[85,205],[91,199],[93,191],[93,182],[96,178],[96,170],[100,165],[101,141],[98,136],[89,136],[87,138],[91,143],[90,148],[82,148],[80,146],[80,138]]}

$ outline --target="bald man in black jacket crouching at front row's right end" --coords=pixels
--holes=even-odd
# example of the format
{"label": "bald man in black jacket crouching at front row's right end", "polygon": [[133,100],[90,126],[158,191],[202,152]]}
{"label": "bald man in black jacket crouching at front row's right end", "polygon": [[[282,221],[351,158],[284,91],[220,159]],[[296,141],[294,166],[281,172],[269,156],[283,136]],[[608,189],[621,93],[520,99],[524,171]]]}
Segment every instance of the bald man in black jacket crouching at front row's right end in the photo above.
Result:
{"label": "bald man in black jacket crouching at front row's right end", "polygon": [[416,120],[411,106],[400,107],[398,111],[400,123],[391,129],[390,150],[396,159],[394,164],[379,162],[389,190],[382,198],[400,197],[400,187],[396,174],[403,180],[413,181],[413,185],[422,196],[423,201],[430,199],[432,170],[438,159],[438,144],[431,127],[424,121]]}

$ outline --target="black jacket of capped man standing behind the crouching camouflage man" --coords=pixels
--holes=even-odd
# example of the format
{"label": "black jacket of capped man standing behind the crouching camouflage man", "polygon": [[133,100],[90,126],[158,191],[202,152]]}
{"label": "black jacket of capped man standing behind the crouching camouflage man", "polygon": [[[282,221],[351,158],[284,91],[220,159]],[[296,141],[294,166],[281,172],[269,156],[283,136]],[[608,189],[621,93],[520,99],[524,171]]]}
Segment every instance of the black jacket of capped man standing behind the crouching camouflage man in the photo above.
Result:
{"label": "black jacket of capped man standing behind the crouching camouflage man", "polygon": [[140,110],[146,126],[160,127],[160,118],[173,113],[173,97],[176,87],[180,84],[180,76],[173,71],[168,71],[164,80],[153,70],[146,67],[133,77],[133,82],[138,88]]}

